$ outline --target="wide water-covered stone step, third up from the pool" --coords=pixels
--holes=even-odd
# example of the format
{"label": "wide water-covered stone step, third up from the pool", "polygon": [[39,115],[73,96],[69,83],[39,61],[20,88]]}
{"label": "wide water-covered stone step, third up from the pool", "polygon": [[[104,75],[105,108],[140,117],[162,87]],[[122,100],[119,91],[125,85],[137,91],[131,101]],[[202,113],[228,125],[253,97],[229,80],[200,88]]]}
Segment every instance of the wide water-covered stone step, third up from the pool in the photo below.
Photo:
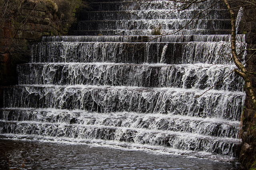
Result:
{"label": "wide water-covered stone step, third up from the pool", "polygon": [[[162,113],[239,120],[244,92],[177,88],[17,85],[2,87],[2,107]],[[204,93],[205,92],[205,93]]]}

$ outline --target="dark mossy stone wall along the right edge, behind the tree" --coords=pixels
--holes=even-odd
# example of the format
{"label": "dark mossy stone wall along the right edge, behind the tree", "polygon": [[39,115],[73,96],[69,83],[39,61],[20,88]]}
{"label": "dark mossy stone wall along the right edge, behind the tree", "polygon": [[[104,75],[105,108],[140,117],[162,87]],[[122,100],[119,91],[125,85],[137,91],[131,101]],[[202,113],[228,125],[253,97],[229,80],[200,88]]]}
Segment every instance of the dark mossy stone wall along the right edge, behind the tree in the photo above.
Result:
{"label": "dark mossy stone wall along the right edge, behind the tree", "polygon": [[[255,9],[246,13],[245,39],[247,43],[246,69],[251,72],[250,78],[256,92],[256,14]],[[242,149],[240,152],[241,165],[246,169],[256,169],[256,110],[252,106],[246,90],[244,111],[241,117]]]}

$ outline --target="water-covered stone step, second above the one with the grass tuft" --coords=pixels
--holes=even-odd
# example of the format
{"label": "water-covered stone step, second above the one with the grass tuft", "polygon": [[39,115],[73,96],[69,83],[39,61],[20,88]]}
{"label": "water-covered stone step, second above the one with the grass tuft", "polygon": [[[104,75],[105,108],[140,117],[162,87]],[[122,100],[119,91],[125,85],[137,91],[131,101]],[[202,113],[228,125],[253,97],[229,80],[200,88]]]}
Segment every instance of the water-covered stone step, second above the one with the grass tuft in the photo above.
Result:
{"label": "water-covered stone step, second above the one with the grass tuft", "polygon": [[[199,15],[198,15],[199,14]],[[198,15],[196,17],[196,15]],[[170,19],[230,19],[227,10],[127,10],[80,12],[80,20],[170,20]],[[196,20],[196,19],[195,19]]]}

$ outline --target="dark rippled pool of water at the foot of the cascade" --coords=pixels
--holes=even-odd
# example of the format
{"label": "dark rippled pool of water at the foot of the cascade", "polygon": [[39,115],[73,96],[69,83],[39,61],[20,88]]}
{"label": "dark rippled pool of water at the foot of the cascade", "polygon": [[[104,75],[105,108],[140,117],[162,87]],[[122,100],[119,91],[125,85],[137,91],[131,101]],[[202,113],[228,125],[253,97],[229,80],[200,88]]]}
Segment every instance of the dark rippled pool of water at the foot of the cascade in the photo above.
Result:
{"label": "dark rippled pool of water at the foot of the cascade", "polygon": [[239,170],[236,162],[216,162],[180,155],[60,144],[0,140],[0,169],[84,169],[84,170]]}

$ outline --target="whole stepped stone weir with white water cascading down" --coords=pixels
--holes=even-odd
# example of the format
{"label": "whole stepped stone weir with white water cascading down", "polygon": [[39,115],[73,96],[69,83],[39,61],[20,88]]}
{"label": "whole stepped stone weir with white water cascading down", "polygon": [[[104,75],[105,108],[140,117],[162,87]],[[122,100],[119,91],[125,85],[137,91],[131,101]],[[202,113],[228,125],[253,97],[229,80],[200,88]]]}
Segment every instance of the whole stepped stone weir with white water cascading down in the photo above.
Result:
{"label": "whole stepped stone weir with white water cascading down", "polygon": [[[73,36],[34,44],[18,85],[2,87],[1,138],[238,158],[245,94],[231,73],[228,13],[214,0],[173,3],[94,0]],[[152,35],[157,27],[168,35]]]}

